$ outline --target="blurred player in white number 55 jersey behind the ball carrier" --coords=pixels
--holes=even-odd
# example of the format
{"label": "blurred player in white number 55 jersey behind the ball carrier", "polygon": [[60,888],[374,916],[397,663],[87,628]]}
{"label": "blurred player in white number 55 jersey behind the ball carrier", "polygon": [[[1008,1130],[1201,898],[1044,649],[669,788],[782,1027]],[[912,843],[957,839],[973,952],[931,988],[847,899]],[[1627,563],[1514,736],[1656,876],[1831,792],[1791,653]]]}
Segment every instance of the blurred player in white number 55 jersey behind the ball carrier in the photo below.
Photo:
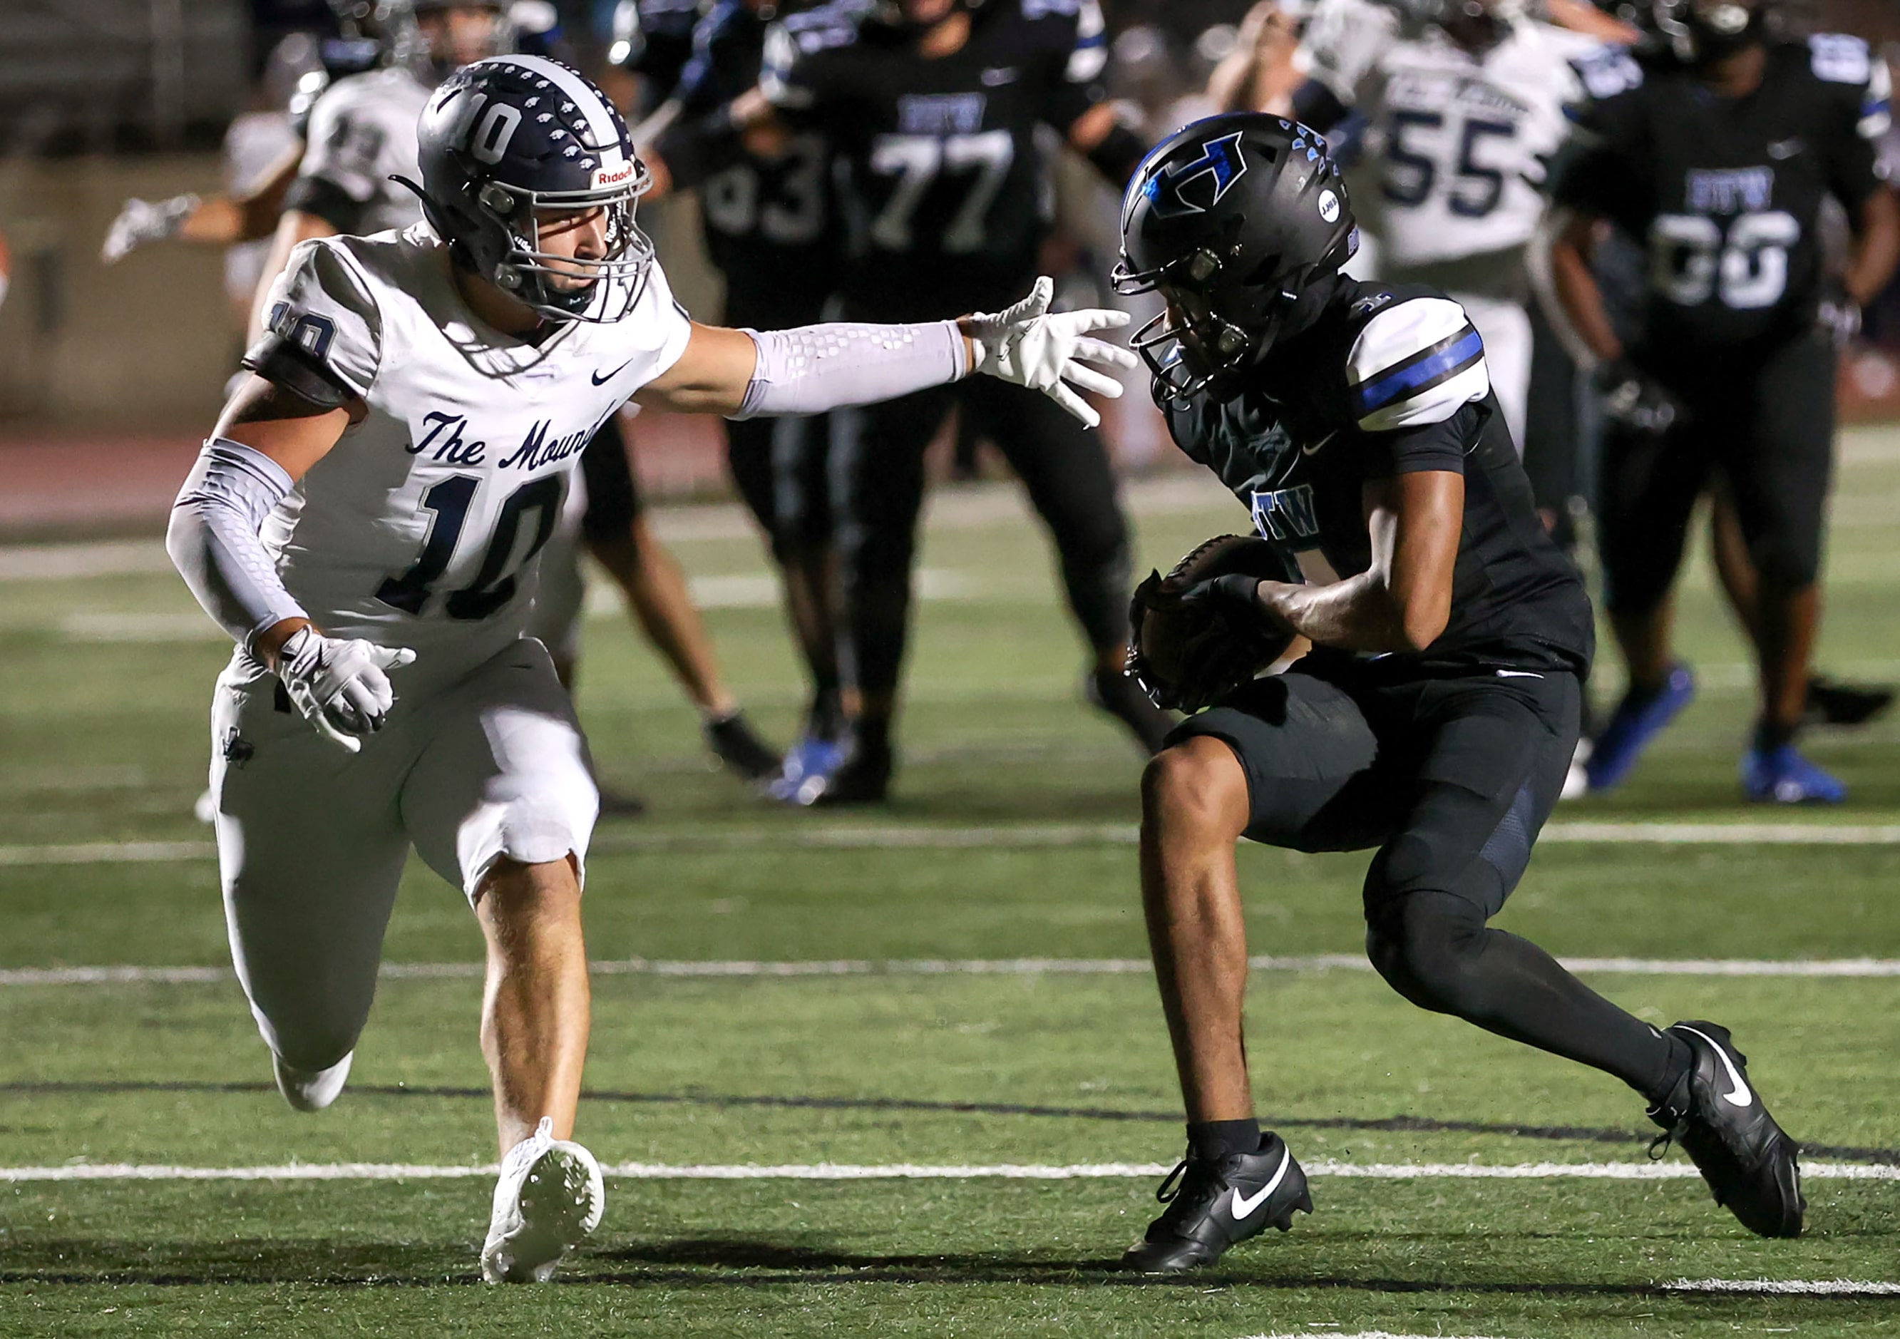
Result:
{"label": "blurred player in white number 55 jersey behind the ball carrier", "polygon": [[[1431,15],[1431,17],[1421,17]],[[1543,218],[1545,161],[1564,142],[1571,61],[1602,46],[1530,19],[1520,0],[1320,0],[1294,116],[1368,122],[1360,220],[1379,277],[1429,283],[1484,336],[1492,389],[1522,450],[1531,376],[1524,247]]]}

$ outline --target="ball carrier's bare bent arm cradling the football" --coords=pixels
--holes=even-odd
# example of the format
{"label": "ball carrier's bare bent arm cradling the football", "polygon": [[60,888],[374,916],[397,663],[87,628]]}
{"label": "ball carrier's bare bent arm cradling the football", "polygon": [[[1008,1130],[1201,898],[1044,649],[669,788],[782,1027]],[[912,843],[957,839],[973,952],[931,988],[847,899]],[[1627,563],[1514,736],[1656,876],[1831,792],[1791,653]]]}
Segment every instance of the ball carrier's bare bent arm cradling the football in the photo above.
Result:
{"label": "ball carrier's bare bent arm cradling the football", "polygon": [[1465,477],[1431,469],[1366,484],[1372,564],[1332,585],[1260,583],[1260,602],[1315,646],[1423,651],[1452,617]]}

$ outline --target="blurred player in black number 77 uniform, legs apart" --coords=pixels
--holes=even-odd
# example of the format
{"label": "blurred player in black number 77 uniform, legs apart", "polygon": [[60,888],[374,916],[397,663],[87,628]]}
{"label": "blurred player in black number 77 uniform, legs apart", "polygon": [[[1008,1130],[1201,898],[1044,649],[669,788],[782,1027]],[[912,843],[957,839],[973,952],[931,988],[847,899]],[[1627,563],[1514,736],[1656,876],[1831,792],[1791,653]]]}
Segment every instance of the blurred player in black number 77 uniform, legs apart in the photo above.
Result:
{"label": "blurred player in black number 77 uniform, legs apart", "polygon": [[[722,125],[754,141],[798,127],[830,139],[855,232],[840,285],[847,317],[1001,308],[1037,273],[1037,125],[1064,135],[1117,186],[1140,161],[1144,142],[1117,123],[1098,80],[1102,38],[1094,0],[842,0],[773,28],[760,89],[737,99]],[[659,158],[682,180],[730,152],[718,127],[699,131],[659,141]],[[859,710],[853,756],[825,802],[876,802],[889,784],[923,448],[952,406],[998,444],[1056,541],[1092,651],[1091,699],[1150,750],[1168,724],[1121,676],[1129,534],[1100,443],[1047,399],[975,386],[912,395],[840,416],[834,431],[844,642]]]}

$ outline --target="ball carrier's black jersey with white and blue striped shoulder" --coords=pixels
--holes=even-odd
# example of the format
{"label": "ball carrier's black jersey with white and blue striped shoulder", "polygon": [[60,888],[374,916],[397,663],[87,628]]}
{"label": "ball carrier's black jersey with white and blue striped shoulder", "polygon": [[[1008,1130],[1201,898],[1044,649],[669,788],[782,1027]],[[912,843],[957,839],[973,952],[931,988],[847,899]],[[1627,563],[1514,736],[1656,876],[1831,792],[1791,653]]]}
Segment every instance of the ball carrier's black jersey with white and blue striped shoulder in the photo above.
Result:
{"label": "ball carrier's black jersey with white and blue striped shoulder", "polygon": [[1264,539],[1319,551],[1341,577],[1372,564],[1368,481],[1461,473],[1450,621],[1425,651],[1389,659],[1421,672],[1588,672],[1590,598],[1537,517],[1465,310],[1425,285],[1334,285],[1320,319],[1275,348],[1243,393],[1168,410],[1176,444],[1248,505]]}

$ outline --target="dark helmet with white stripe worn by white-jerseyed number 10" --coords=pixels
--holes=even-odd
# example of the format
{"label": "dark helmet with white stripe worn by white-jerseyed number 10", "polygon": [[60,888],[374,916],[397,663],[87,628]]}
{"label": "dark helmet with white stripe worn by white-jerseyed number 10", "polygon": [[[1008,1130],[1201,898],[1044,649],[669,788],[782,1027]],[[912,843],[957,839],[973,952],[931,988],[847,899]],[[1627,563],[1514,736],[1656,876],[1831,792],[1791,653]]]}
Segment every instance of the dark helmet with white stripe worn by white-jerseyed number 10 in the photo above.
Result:
{"label": "dark helmet with white stripe worn by white-jerseyed number 10", "polygon": [[[587,78],[538,55],[477,61],[435,89],[418,139],[422,184],[403,184],[422,196],[458,266],[553,321],[608,323],[633,310],[654,264],[633,218],[652,177],[627,122]],[[585,209],[608,211],[606,256],[540,249],[543,218]]]}

